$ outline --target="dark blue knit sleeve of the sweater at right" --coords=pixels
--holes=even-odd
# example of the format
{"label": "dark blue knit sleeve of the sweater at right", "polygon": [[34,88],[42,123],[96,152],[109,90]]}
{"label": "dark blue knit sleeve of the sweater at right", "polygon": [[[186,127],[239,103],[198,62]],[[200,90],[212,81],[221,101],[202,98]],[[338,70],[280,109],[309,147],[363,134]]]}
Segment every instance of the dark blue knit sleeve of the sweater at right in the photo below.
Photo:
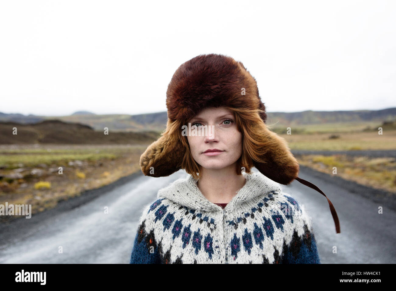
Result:
{"label": "dark blue knit sleeve of the sweater at right", "polygon": [[290,244],[284,247],[283,264],[320,264],[318,248],[314,234],[305,226],[305,232],[298,236],[294,232]]}

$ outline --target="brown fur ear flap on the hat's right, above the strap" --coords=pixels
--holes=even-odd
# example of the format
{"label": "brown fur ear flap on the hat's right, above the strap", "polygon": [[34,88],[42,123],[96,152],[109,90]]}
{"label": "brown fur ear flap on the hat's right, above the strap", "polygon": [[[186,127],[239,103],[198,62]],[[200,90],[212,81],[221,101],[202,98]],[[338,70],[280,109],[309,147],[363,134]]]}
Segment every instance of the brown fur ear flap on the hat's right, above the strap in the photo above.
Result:
{"label": "brown fur ear flap on the hat's right, above the strap", "polygon": [[253,161],[254,166],[271,180],[284,185],[290,184],[297,178],[300,167],[286,139],[267,129],[266,125],[260,126],[259,131],[256,138],[264,144],[261,159],[265,162]]}

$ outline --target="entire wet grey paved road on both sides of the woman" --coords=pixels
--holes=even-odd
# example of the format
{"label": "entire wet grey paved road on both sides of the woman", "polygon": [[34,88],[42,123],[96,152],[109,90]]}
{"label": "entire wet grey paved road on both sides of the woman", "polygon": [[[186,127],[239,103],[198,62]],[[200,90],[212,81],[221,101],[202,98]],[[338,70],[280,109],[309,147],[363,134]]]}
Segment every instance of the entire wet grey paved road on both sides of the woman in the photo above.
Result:
{"label": "entire wet grey paved road on both sides of the woman", "polygon": [[[255,169],[256,170],[256,169]],[[143,206],[156,198],[159,188],[185,177],[143,175],[118,185],[85,204],[18,219],[0,226],[0,263],[128,263]],[[294,181],[284,186],[312,217],[322,263],[395,263],[396,213],[381,203],[345,189],[345,183],[301,167],[300,178],[316,184],[333,202],[341,224],[335,226],[327,200],[320,193]],[[348,183],[348,182],[346,182]],[[114,186],[114,185],[113,185]],[[78,199],[74,198],[74,203]],[[109,207],[109,214],[104,207]],[[383,206],[383,214],[378,207]],[[70,207],[69,207],[70,208]],[[63,209],[63,210],[62,210]],[[66,209],[66,210],[65,210]],[[63,253],[59,253],[59,247]],[[337,253],[333,253],[333,247]]]}

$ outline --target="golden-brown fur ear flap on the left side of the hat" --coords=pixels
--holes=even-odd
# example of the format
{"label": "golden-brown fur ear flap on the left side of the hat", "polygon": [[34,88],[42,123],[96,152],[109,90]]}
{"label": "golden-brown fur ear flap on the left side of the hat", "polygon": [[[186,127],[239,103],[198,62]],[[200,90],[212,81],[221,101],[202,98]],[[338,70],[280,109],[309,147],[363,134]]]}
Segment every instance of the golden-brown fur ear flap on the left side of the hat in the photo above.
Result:
{"label": "golden-brown fur ear flap on the left side of the hat", "polygon": [[179,140],[177,130],[181,130],[179,122],[171,122],[168,118],[166,131],[140,156],[139,164],[143,174],[151,177],[165,177],[181,169],[185,147]]}

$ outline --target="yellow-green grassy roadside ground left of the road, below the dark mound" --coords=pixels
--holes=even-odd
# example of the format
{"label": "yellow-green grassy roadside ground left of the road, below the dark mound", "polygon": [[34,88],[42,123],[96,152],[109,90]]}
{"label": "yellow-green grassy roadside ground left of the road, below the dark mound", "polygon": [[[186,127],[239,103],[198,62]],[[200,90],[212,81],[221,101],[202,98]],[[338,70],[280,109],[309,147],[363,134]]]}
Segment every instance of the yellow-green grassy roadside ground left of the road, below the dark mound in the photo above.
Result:
{"label": "yellow-green grassy roadside ground left of the road, below the dark mound", "polygon": [[[84,190],[140,171],[139,158],[147,146],[23,145],[18,149],[15,145],[2,145],[0,175],[4,178],[0,180],[0,204],[31,204],[32,214],[55,207],[59,201],[79,196]],[[63,167],[62,173],[59,166]],[[33,168],[40,171],[32,174]],[[7,178],[15,173],[22,178]]]}

